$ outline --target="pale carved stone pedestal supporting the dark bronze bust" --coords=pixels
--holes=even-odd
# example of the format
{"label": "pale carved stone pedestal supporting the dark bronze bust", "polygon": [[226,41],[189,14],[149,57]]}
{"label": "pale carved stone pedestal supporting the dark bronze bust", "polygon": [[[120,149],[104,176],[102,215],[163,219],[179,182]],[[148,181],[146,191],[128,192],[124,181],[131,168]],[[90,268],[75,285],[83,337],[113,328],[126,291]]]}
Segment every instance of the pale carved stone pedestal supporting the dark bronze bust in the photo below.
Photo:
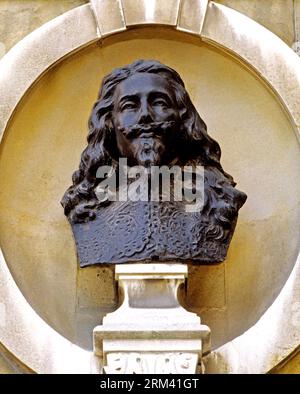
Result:
{"label": "pale carved stone pedestal supporting the dark bronze bust", "polygon": [[122,305],[94,329],[94,352],[104,373],[203,372],[210,329],[177,299],[187,272],[181,264],[116,266]]}

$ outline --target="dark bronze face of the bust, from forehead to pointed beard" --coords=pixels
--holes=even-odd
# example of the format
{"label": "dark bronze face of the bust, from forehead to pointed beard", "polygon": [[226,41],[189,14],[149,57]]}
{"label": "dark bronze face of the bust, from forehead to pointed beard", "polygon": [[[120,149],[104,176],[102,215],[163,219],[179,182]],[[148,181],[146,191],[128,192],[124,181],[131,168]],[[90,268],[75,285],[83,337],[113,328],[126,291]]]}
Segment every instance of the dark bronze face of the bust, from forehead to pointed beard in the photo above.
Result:
{"label": "dark bronze face of the bust, from forehead to pointed beard", "polygon": [[137,73],[122,81],[112,121],[120,157],[129,165],[169,164],[176,157],[179,112],[173,89],[160,75]]}

